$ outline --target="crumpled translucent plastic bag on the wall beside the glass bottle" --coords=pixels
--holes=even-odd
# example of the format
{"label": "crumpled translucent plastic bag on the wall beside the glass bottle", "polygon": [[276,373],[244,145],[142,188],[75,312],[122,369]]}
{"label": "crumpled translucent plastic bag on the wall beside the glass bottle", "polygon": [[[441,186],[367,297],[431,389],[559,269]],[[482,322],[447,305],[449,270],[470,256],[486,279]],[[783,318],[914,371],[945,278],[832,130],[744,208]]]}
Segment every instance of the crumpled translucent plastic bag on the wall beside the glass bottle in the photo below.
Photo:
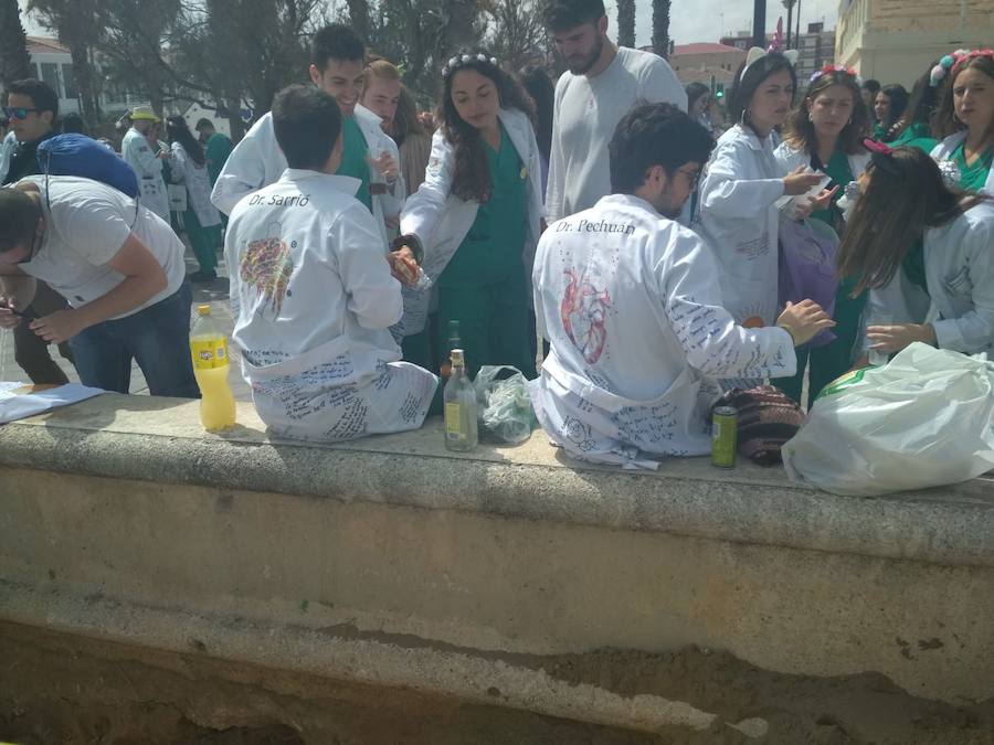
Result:
{"label": "crumpled translucent plastic bag on the wall beside the glass bottle", "polygon": [[479,424],[505,443],[524,443],[538,425],[521,371],[510,365],[484,365],[476,373]]}

